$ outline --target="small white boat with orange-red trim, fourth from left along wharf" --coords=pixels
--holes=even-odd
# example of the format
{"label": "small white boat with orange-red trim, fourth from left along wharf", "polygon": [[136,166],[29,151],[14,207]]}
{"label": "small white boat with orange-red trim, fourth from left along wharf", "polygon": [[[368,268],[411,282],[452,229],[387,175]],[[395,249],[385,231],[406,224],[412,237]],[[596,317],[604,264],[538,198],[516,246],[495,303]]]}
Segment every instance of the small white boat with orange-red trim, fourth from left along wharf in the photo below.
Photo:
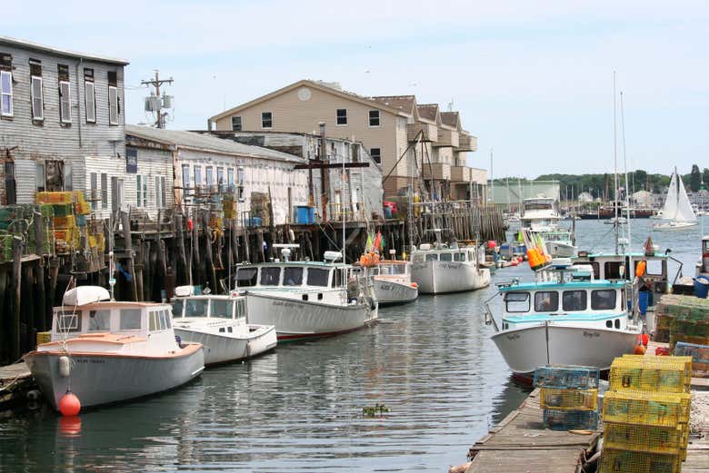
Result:
{"label": "small white boat with orange-red trim, fourth from left along wharf", "polygon": [[368,268],[374,276],[374,294],[379,305],[403,304],[418,298],[418,284],[411,281],[411,262],[379,261]]}

